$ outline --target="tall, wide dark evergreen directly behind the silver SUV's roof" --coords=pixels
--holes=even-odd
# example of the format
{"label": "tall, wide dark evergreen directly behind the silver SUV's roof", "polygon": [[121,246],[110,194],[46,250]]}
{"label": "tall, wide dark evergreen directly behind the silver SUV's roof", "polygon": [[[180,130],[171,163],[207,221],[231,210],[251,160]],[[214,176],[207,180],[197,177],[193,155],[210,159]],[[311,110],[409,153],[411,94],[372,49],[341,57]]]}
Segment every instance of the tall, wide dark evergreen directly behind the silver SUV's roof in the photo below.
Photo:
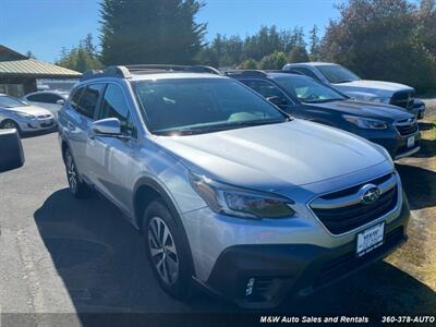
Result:
{"label": "tall, wide dark evergreen directly behind the silver SUV's roof", "polygon": [[195,23],[195,0],[102,0],[101,59],[105,64],[192,63],[206,24]]}

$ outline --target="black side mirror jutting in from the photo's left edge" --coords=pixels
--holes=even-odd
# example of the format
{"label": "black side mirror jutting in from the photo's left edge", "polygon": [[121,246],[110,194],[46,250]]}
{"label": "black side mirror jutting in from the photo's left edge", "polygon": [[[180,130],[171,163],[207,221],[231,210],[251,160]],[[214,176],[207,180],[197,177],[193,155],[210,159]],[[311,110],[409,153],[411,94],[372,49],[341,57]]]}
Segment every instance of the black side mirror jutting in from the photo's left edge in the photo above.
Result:
{"label": "black side mirror jutting in from the photo's left edge", "polygon": [[0,130],[0,172],[24,165],[23,145],[16,130]]}

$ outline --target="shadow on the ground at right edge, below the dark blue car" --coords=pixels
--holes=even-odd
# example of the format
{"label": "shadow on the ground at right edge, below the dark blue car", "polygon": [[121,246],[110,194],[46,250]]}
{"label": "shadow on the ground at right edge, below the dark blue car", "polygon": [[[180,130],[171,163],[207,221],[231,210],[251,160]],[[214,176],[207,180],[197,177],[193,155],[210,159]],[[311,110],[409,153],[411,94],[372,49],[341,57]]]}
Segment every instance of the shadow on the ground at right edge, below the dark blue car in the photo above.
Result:
{"label": "shadow on the ground at right edge, below the dark blue car", "polygon": [[436,206],[436,172],[401,164],[396,168],[412,210]]}

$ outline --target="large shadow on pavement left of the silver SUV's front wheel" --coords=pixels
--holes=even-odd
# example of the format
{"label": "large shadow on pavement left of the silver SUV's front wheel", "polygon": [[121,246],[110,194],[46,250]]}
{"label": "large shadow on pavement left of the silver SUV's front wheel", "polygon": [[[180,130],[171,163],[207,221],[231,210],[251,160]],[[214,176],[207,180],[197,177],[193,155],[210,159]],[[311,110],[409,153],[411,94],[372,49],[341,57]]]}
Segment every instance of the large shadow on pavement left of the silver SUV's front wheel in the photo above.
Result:
{"label": "large shadow on pavement left of the silver SUV's front wheel", "polygon": [[77,312],[185,312],[228,306],[207,294],[185,304],[164,293],[148,266],[142,237],[105,198],[94,194],[75,199],[63,189],[51,194],[34,218]]}

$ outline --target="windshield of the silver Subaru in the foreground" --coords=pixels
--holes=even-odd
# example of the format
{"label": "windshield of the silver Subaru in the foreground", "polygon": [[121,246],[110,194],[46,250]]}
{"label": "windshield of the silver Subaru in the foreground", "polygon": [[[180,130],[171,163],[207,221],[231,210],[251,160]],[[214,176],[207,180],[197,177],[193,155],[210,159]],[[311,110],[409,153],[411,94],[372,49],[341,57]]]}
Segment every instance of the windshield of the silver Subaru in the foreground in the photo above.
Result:
{"label": "windshield of the silver Subaru in the foreground", "polygon": [[132,85],[154,134],[198,134],[288,120],[230,78],[140,81]]}

